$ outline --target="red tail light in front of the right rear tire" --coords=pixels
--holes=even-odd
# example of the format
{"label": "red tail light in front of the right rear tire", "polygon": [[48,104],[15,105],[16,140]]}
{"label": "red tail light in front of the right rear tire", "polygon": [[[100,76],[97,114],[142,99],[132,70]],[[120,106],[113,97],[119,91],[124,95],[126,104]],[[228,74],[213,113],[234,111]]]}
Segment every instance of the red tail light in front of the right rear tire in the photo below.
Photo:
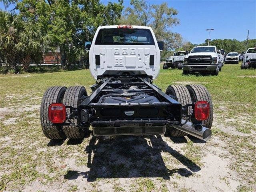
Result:
{"label": "red tail light in front of the right rear tire", "polygon": [[203,121],[208,119],[210,114],[210,106],[207,101],[198,101],[195,104],[194,115],[196,120]]}

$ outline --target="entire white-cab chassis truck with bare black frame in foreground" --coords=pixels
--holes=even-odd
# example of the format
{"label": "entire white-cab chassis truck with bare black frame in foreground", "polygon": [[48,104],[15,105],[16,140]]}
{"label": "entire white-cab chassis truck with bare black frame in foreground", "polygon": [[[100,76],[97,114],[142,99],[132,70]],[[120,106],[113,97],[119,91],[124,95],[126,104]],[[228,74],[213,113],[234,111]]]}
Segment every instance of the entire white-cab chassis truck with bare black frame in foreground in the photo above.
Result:
{"label": "entire white-cab chassis truck with bare black frame in foreground", "polygon": [[166,92],[153,84],[160,70],[160,51],[146,26],[101,26],[89,51],[96,83],[88,95],[84,86],[52,86],[42,98],[40,117],[47,138],[191,134],[211,137],[212,99],[202,85],[170,85]]}

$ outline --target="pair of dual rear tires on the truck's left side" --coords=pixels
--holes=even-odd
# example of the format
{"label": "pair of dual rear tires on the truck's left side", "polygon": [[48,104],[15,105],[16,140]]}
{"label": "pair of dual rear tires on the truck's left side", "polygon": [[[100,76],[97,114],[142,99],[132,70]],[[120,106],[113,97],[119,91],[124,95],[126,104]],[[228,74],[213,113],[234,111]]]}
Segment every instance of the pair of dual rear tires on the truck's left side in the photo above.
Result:
{"label": "pair of dual rear tires on the truck's left side", "polygon": [[[48,107],[51,103],[63,103],[65,106],[76,108],[80,104],[80,98],[87,96],[84,86],[53,86],[48,88],[42,98],[40,119],[44,135],[49,139],[79,139],[84,138],[88,128],[80,127],[77,119],[71,119],[70,125],[56,126],[48,118]],[[70,109],[67,109],[70,114]]]}

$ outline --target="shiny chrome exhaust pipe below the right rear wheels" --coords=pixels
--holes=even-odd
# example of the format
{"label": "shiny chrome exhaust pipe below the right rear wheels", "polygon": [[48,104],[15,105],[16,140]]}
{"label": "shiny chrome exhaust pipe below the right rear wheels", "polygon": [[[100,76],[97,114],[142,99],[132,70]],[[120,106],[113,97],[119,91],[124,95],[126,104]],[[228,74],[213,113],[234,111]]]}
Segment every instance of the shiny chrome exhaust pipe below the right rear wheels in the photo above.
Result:
{"label": "shiny chrome exhaust pipe below the right rear wheels", "polygon": [[[186,121],[181,120],[181,124],[184,124]],[[172,127],[181,130],[187,134],[190,134],[196,138],[202,139],[204,141],[208,141],[212,137],[212,131],[209,128],[198,126],[197,128],[192,127],[191,122],[186,122],[183,126],[180,125],[172,125]]]}

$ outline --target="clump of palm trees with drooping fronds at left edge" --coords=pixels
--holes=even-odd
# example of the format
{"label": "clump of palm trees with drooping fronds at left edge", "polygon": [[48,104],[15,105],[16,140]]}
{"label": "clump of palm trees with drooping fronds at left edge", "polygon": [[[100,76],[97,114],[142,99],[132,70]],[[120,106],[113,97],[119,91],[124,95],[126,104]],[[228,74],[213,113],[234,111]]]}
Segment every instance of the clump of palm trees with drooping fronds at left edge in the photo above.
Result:
{"label": "clump of palm trees with drooping fronds at left edge", "polygon": [[40,61],[42,52],[50,48],[48,39],[36,24],[24,22],[16,14],[0,11],[0,50],[5,57],[6,73],[11,68],[19,73],[19,64],[28,71],[32,60]]}

